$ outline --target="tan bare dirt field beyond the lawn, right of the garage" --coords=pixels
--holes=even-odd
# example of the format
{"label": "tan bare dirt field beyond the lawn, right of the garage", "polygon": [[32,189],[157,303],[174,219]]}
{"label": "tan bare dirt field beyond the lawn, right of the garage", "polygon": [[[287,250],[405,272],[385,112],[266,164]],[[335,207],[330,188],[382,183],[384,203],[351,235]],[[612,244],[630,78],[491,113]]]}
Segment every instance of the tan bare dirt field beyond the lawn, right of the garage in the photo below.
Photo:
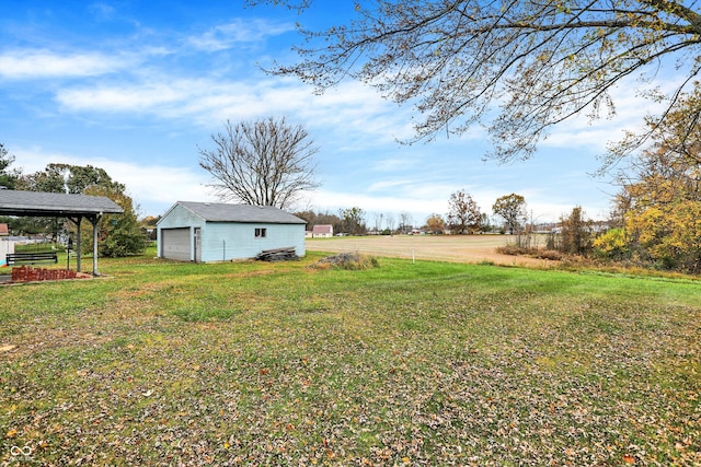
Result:
{"label": "tan bare dirt field beyond the lawn, right of the garage", "polygon": [[496,247],[509,241],[508,235],[397,235],[307,238],[310,252],[360,252],[375,256],[415,258],[457,262],[493,261],[497,265],[547,267],[553,261],[499,255]]}

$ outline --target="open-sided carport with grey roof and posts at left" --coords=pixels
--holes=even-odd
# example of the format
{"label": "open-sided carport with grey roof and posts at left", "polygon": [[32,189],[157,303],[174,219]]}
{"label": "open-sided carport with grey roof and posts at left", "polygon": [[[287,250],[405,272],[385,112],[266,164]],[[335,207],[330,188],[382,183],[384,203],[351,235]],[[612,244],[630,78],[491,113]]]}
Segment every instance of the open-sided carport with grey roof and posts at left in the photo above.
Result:
{"label": "open-sided carport with grey roof and posts at left", "polygon": [[92,224],[92,273],[97,276],[97,222],[104,214],[122,214],[124,209],[104,196],[0,189],[0,215],[66,218],[78,227],[76,268],[81,270],[80,224]]}

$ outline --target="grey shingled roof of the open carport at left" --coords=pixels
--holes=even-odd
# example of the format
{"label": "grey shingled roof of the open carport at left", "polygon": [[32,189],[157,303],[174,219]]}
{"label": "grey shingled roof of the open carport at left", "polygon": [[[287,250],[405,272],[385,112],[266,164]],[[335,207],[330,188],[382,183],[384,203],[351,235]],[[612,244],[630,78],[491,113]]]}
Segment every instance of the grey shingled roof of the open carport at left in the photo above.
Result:
{"label": "grey shingled roof of the open carport at left", "polygon": [[104,196],[0,189],[0,214],[35,217],[96,217],[124,210]]}

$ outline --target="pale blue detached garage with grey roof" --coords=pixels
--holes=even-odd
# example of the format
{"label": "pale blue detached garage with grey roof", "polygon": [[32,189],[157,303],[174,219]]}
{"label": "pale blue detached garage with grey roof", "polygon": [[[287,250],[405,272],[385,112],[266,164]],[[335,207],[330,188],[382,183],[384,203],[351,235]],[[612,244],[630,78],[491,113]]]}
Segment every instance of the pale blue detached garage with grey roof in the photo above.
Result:
{"label": "pale blue detached garage with grey roof", "polygon": [[177,201],[157,224],[159,258],[230,261],[294,247],[304,256],[307,222],[269,206]]}

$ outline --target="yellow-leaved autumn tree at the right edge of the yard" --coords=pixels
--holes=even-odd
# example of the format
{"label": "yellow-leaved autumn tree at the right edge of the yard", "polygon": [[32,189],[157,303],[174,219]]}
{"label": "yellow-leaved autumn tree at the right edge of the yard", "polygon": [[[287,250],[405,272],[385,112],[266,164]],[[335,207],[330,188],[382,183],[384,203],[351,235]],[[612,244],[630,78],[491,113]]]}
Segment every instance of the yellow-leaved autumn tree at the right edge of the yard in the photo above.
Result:
{"label": "yellow-leaved autumn tree at the right edge of the yard", "polygon": [[701,92],[680,97],[653,144],[622,167],[616,198],[631,257],[689,272],[701,272],[701,127],[688,121],[699,102]]}

